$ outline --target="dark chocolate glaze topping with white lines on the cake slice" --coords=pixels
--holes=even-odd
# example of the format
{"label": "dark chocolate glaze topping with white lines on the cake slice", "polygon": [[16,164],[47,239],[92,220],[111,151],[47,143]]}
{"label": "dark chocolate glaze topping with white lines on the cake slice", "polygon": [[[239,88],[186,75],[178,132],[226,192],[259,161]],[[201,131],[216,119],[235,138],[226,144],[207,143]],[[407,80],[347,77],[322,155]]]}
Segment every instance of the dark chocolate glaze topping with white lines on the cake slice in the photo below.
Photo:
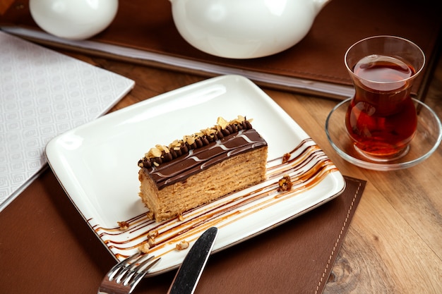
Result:
{"label": "dark chocolate glaze topping with white lines on the cake slice", "polygon": [[198,137],[193,144],[182,142],[179,148],[163,150],[160,157],[143,157],[138,166],[162,189],[234,155],[267,146],[249,121],[227,125],[212,136]]}

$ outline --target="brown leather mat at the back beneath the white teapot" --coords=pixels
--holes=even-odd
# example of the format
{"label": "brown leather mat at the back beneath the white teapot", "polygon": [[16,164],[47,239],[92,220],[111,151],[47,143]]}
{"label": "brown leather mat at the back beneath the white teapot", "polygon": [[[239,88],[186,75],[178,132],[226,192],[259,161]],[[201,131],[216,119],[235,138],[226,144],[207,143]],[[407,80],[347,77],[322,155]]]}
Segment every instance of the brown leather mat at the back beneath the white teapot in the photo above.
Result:
{"label": "brown leather mat at the back beneath the white teapot", "polygon": [[[11,6],[4,16],[0,16],[0,25],[37,27],[30,17],[27,4],[28,0],[16,0],[16,4]],[[420,97],[426,92],[427,80],[432,72],[433,61],[436,59],[438,33],[442,26],[441,15],[442,6],[435,5],[432,0],[419,1],[419,4],[413,0],[331,0],[316,17],[309,34],[294,47],[261,59],[235,60],[205,54],[186,43],[174,26],[169,1],[131,0],[119,2],[119,11],[114,22],[92,40],[241,71],[325,82],[348,89],[352,87],[352,82],[343,61],[347,48],[359,39],[372,35],[397,35],[412,40],[426,54],[426,68],[417,78],[414,87],[414,93]],[[71,49],[80,50],[75,47]],[[97,51],[88,51],[88,53],[102,54]],[[107,57],[123,59],[121,56],[107,55]],[[143,63],[140,59],[129,61]],[[155,60],[147,63],[179,71],[216,75],[216,73],[191,70],[182,64],[155,63]],[[247,76],[246,73],[244,75]],[[280,80],[278,78],[272,82],[265,82],[257,80],[256,77],[247,77],[258,85],[327,97],[334,96],[322,92],[323,90],[311,90],[301,86],[293,88],[290,85],[278,84],[277,81]],[[304,82],[302,85],[310,87],[310,84]]]}

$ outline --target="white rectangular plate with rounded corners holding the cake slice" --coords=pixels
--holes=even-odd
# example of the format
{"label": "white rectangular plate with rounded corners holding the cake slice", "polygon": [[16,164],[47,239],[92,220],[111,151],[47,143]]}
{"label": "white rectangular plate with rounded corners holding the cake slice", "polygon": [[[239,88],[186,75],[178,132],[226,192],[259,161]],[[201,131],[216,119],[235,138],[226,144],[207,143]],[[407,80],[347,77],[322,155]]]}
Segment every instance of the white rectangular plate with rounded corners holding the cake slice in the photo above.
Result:
{"label": "white rectangular plate with rounded corners holding the cake slice", "polygon": [[[253,128],[268,142],[268,180],[183,214],[182,219],[150,221],[138,197],[138,159],[157,144],[238,115],[253,118]],[[112,255],[122,259],[153,242],[162,260],[150,276],[174,269],[205,229],[217,226],[214,252],[328,202],[345,189],[345,180],[313,140],[250,80],[225,75],[161,94],[51,140],[46,148],[52,170],[85,221]],[[283,162],[284,154],[290,154]],[[282,176],[293,188],[277,191]],[[216,180],[216,179],[214,179]],[[129,229],[119,230],[126,221]]]}

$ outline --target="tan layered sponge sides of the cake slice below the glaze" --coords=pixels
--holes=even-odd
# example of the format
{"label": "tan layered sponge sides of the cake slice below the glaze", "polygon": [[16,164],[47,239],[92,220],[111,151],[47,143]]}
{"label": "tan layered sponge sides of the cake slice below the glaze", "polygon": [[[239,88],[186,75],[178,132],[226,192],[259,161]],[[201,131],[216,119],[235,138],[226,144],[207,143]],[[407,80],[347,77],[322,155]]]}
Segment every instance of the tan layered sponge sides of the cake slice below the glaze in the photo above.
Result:
{"label": "tan layered sponge sides of the cake slice below the glaze", "polygon": [[140,196],[155,221],[179,216],[189,209],[212,202],[229,193],[243,190],[265,180],[267,146],[229,157],[194,173],[186,180],[157,190],[147,169],[141,169]]}

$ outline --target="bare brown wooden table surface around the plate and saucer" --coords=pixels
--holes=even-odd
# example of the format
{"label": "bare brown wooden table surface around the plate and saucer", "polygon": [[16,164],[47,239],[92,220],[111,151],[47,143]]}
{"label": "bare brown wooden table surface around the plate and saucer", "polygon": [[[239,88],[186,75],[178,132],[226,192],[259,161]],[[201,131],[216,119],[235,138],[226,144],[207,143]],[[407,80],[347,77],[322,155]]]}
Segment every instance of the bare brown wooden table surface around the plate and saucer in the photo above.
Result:
{"label": "bare brown wooden table surface around the plate and saucer", "polygon": [[[205,79],[65,53],[136,81],[112,111]],[[442,293],[441,147],[410,169],[361,169],[343,160],[325,136],[325,118],[337,101],[263,90],[311,135],[343,174],[368,181],[324,293]],[[439,117],[441,99],[439,62],[425,100]]]}

